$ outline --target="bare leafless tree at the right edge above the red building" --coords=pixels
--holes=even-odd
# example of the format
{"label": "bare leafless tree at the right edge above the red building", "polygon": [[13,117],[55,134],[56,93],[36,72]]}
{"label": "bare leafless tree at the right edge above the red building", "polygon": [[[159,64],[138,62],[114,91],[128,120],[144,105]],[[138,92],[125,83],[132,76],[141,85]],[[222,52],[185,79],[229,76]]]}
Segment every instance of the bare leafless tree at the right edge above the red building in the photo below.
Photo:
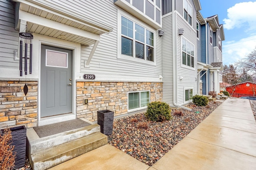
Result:
{"label": "bare leafless tree at the right edge above the red building", "polygon": [[240,72],[245,70],[248,74],[256,74],[256,47],[252,53],[235,64]]}

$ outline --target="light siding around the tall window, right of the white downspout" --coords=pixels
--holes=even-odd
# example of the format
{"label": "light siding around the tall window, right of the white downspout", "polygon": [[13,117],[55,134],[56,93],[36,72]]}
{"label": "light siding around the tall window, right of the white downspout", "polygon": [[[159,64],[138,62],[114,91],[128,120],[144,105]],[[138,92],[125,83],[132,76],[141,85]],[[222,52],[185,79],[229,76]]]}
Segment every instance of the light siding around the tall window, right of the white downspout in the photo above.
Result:
{"label": "light siding around the tall window, right of the white downspout", "polygon": [[[176,25],[177,25],[177,31],[178,28],[184,28],[184,34],[182,36],[179,36],[177,34],[177,104],[183,105],[184,104],[184,98],[185,98],[185,92],[184,88],[192,88],[193,89],[193,95],[197,93],[197,39],[196,39],[196,31],[188,24],[184,18],[176,13]],[[195,52],[195,58],[194,58],[194,68],[191,67],[187,68],[182,66],[182,45],[181,40],[182,37],[192,43],[194,45],[194,52]],[[183,77],[182,80],[180,80],[180,76]]]}

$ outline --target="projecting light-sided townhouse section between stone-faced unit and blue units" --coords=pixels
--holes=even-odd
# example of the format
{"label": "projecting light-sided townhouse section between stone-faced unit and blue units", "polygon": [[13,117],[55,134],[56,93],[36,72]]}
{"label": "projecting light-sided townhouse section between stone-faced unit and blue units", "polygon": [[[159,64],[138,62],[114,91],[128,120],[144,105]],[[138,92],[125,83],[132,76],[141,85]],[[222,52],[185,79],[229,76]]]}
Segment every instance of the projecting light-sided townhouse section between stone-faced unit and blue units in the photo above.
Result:
{"label": "projecting light-sided townhouse section between stone-faced unit and blue units", "polygon": [[162,1],[163,101],[172,107],[183,107],[197,94],[199,10],[199,0]]}

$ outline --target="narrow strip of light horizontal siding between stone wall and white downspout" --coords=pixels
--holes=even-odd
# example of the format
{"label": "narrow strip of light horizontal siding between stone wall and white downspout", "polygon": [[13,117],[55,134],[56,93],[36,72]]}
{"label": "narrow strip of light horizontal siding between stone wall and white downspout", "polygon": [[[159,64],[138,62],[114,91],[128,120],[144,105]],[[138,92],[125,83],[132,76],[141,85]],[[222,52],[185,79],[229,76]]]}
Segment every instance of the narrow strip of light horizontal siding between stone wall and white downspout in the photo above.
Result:
{"label": "narrow strip of light horizontal siding between stone wall and white downspout", "polygon": [[172,14],[162,17],[162,29],[163,101],[173,106]]}

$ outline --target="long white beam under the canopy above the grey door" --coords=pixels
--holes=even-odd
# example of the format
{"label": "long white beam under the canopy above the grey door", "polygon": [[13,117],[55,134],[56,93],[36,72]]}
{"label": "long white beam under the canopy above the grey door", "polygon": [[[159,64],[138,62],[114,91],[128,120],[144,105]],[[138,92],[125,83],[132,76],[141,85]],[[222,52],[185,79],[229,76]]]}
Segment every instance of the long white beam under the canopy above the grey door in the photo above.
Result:
{"label": "long white beam under the canopy above the grey door", "polygon": [[24,12],[22,10],[19,10],[19,18],[20,18],[20,20],[28,21],[28,22],[35,23],[38,25],[56,29],[59,31],[64,31],[67,33],[81,36],[81,37],[94,39],[95,41],[100,41],[100,35],[90,33],[88,31],[84,31],[84,30],[81,30],[81,29],[78,29],[75,27],[71,27],[71,26],[65,25],[63,23],[52,21],[52,20],[49,20],[49,19],[46,19],[46,18],[43,18],[40,16],[36,16],[34,14],[30,14],[30,13]]}

